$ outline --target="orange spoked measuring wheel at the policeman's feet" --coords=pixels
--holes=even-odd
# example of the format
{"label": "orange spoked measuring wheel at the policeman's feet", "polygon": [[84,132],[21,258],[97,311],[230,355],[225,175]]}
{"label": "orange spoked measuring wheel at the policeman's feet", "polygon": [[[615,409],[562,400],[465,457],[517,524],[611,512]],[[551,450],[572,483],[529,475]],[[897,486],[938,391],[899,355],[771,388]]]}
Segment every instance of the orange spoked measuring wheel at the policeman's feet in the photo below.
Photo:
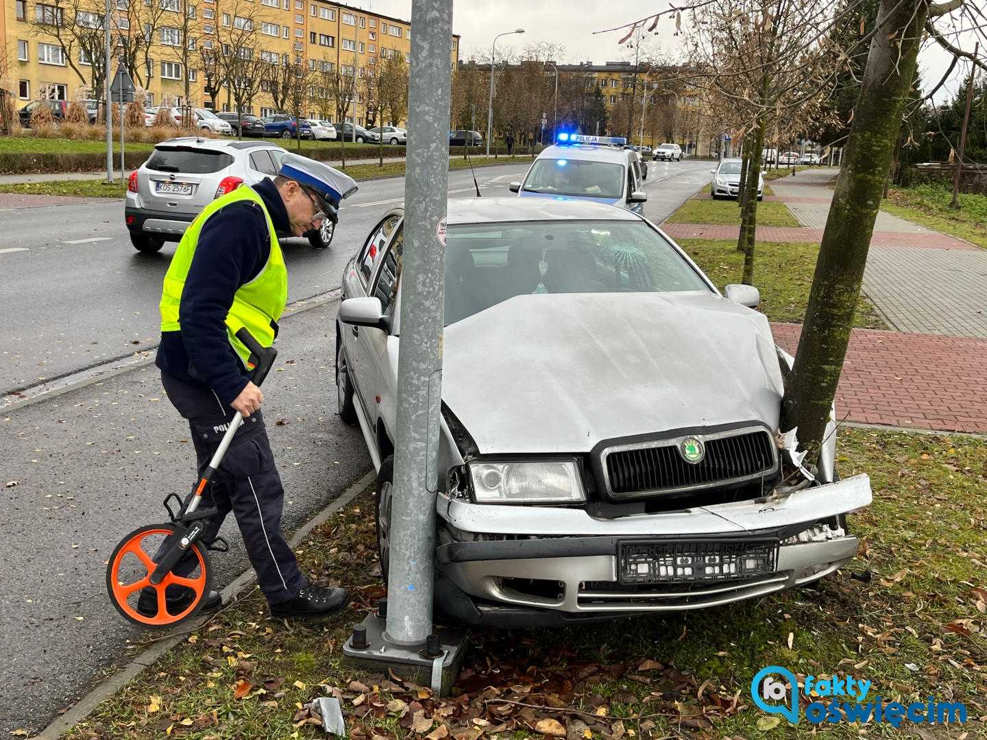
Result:
{"label": "orange spoked measuring wheel at the policeman's feet", "polygon": [[[190,543],[190,555],[186,555],[194,562],[188,576],[168,572],[160,583],[151,583],[151,574],[157,566],[154,556],[162,543],[183,534],[184,529],[174,524],[150,524],[135,529],[116,546],[107,567],[107,591],[116,611],[130,622],[168,627],[188,619],[201,606],[212,573],[205,549],[197,542]],[[153,589],[153,599],[151,592],[142,596],[145,588]]]}

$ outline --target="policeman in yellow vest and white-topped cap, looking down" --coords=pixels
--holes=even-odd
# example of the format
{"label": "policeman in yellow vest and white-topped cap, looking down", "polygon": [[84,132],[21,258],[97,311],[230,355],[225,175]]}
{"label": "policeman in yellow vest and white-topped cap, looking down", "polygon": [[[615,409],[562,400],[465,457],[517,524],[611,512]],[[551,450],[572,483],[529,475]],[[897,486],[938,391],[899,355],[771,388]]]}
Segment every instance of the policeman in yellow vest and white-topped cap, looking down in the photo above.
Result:
{"label": "policeman in yellow vest and white-topped cap, looking down", "polygon": [[[169,401],[189,420],[199,469],[208,464],[236,411],[244,423],[217,475],[203,492],[203,505],[217,513],[202,542],[210,544],[230,511],[257,571],[273,617],[314,618],[339,611],[342,588],[306,581],[281,532],[284,490],[267,441],[264,394],[251,382],[250,350],[234,335],[247,330],[264,346],[277,334],[288,280],[277,235],[310,236],[332,217],[342,198],[356,190],[351,178],[294,154],[279,174],[241,186],[207,205],[189,226],[165,275],[161,297],[161,344],[156,359]],[[327,215],[330,214],[330,215]],[[180,561],[178,575],[196,563]],[[186,609],[194,593],[169,586],[167,609]],[[215,591],[202,609],[221,606]],[[154,617],[154,589],[141,592],[137,611]]]}

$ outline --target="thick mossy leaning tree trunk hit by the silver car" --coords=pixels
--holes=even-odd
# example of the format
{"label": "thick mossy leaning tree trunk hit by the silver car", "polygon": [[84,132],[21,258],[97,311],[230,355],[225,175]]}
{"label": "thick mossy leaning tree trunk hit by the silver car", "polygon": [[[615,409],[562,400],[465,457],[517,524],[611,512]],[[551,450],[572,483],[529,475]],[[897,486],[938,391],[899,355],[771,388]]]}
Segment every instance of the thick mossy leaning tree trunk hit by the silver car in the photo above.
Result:
{"label": "thick mossy leaning tree trunk hit by the silver car", "polygon": [[782,429],[798,427],[802,449],[818,450],[850,343],[880,193],[915,75],[929,6],[881,0],[812,278],[795,366],[782,403]]}

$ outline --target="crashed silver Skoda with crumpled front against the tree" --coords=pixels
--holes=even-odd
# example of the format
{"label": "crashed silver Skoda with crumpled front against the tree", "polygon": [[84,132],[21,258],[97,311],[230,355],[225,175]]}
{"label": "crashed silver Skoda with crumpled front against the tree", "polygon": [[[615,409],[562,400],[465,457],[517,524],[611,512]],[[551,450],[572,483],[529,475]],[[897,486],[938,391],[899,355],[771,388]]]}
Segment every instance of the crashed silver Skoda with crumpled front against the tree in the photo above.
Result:
{"label": "crashed silver Skoda with crumpled front against the tree", "polygon": [[[342,419],[377,469],[389,561],[404,212],[346,265]],[[792,358],[753,307],[626,209],[449,201],[436,610],[498,627],[749,599],[857,552],[867,476],[779,433]]]}

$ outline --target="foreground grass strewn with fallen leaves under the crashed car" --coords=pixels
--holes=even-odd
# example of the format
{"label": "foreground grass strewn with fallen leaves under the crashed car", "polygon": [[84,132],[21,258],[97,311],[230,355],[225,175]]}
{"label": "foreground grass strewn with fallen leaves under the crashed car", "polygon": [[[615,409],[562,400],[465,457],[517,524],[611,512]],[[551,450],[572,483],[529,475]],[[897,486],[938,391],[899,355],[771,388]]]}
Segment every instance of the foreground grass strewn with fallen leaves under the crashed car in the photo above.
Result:
{"label": "foreground grass strewn with fallen leaves under the crashed car", "polygon": [[[332,694],[342,698],[349,737],[367,740],[420,738],[432,722],[421,734],[407,728],[419,707],[435,728],[452,730],[438,729],[432,740],[540,738],[547,728],[534,727],[550,718],[568,725],[569,737],[587,740],[808,737],[813,725],[771,728],[750,701],[753,674],[773,664],[799,676],[850,673],[872,681],[885,701],[933,696],[966,703],[970,717],[987,713],[987,445],[962,435],[842,429],[838,467],[845,478],[869,474],[874,491],[873,504],[850,519],[862,544],[846,570],[723,608],[606,627],[478,630],[457,696],[447,702],[341,660],[349,627],[383,593],[373,575],[367,491],[298,550],[310,578],[350,589],[346,612],[321,625],[287,626],[266,618],[254,590],[190,630],[68,737],[324,737],[302,707]],[[400,718],[402,704],[388,705],[390,697],[418,705]],[[978,727],[973,719],[950,727],[949,736],[970,730],[972,739]],[[826,729],[856,738],[861,728]],[[871,725],[869,734],[899,736],[886,725]]]}

